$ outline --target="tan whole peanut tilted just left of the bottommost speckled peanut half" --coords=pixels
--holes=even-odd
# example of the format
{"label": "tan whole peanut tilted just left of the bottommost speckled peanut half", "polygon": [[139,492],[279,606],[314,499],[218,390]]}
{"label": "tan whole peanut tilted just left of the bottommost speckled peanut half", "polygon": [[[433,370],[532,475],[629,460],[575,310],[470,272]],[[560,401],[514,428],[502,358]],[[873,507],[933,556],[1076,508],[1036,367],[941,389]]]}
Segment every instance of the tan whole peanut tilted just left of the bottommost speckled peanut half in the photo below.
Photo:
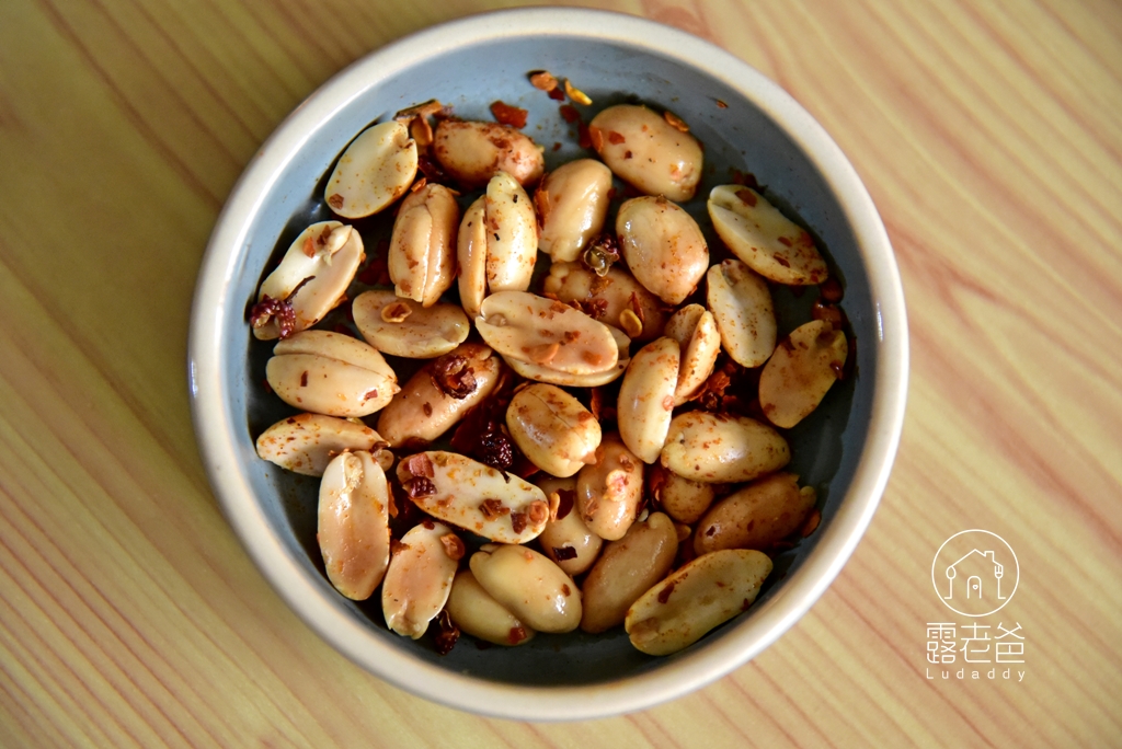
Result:
{"label": "tan whole peanut tilted just left of the bottommost speckled peanut half", "polygon": [[632,525],[627,535],[604,548],[585,579],[580,628],[603,632],[624,623],[627,609],[666,576],[678,554],[678,530],[663,512]]}

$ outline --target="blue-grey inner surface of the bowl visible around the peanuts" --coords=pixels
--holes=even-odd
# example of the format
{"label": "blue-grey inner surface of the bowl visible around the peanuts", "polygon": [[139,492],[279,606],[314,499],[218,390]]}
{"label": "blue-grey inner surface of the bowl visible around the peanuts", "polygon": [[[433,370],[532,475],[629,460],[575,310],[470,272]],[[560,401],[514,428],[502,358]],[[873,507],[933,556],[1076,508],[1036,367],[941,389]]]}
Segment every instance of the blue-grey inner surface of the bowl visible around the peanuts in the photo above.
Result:
{"label": "blue-grey inner surface of the bowl visible around the peanuts", "polygon": [[[790,431],[788,437],[794,456],[792,470],[804,483],[819,490],[822,526],[827,526],[849,484],[870,422],[877,336],[863,261],[853,232],[821,175],[788,136],[736,91],[682,67],[677,61],[613,43],[548,37],[505,40],[500,55],[488,45],[450,52],[432,57],[407,75],[371,84],[310,135],[303,150],[292,158],[273,184],[250,231],[245,262],[229,287],[230,308],[248,309],[260,279],[292,239],[309,223],[331,218],[322,200],[322,185],[347,144],[371,122],[393,117],[405,107],[438,99],[452,105],[461,118],[490,120],[488,105],[503,100],[530,111],[524,131],[545,147],[548,168],[589,156],[590,151],[577,145],[576,126],[561,117],[559,104],[562,102],[548,98],[528,83],[526,73],[533,70],[549,70],[567,76],[588,93],[594,105],[579,108],[586,121],[608,104],[640,101],[670,109],[689,122],[692,132],[705,145],[707,166],[698,197],[686,207],[709,238],[715,259],[723,257],[725,250],[712,232],[705,197],[712,186],[728,183],[734,169],[754,174],[760,184],[766,186],[766,194],[819,240],[844,280],[843,307],[858,342],[856,377],[838,383],[818,412]],[[558,150],[553,149],[554,144],[560,144]],[[357,225],[368,255],[374,255],[379,237],[388,237],[388,220],[365,220]],[[361,288],[365,287],[356,287],[356,292]],[[809,307],[815,297],[815,289],[802,295],[782,288],[775,290],[781,335],[810,320]],[[337,315],[335,322],[343,322],[341,315]],[[332,321],[325,324],[330,327]],[[287,473],[256,457],[254,440],[257,435],[294,410],[266,394],[264,369],[272,345],[252,340],[248,331],[245,317],[231,315],[228,318],[224,351],[231,422],[243,425],[239,445],[245,470],[273,530],[294,558],[314,571],[322,584],[323,605],[335,607],[362,621],[374,637],[392,647],[411,650],[417,657],[456,672],[498,682],[591,684],[637,675],[662,663],[632,648],[622,627],[600,636],[582,632],[542,635],[518,648],[482,648],[470,638],[463,638],[451,654],[440,656],[431,635],[413,641],[389,632],[377,594],[369,601],[356,603],[335,593],[322,574],[315,545],[318,480]],[[401,360],[394,363],[410,366]],[[404,381],[407,372],[399,376]],[[761,600],[775,595],[782,588],[783,577],[813,547],[812,535],[779,556]],[[725,630],[751,613],[749,610],[726,625]],[[707,641],[721,635],[720,630],[712,632],[692,648],[705,647]]]}

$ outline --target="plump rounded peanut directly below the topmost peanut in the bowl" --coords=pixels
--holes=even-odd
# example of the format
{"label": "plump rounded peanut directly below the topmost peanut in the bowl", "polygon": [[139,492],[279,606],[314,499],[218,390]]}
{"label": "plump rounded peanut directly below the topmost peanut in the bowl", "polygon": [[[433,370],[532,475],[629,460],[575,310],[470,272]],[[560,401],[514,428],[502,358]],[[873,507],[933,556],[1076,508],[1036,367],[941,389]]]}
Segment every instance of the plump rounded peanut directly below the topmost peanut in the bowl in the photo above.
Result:
{"label": "plump rounded peanut directly below the topmost peanut in the bowl", "polygon": [[624,202],[616,234],[635,278],[666,304],[681,304],[709,267],[709,247],[693,216],[662,196]]}

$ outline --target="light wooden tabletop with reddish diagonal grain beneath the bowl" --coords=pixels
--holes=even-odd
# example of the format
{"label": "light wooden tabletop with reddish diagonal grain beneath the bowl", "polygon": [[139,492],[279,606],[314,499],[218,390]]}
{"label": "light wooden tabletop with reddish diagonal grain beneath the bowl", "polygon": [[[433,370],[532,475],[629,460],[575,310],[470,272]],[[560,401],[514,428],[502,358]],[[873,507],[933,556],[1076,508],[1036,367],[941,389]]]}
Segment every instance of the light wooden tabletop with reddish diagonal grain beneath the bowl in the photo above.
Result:
{"label": "light wooden tabletop with reddish diagonal grain beneath the bowl", "polygon": [[[0,3],[0,745],[1122,746],[1122,6],[626,0],[790,91],[865,179],[909,303],[881,509],[748,665],[525,724],[359,671],[227,527],[185,387],[195,272],[278,121],[387,41],[500,3]],[[983,528],[1014,674],[942,679],[931,560]],[[1012,641],[1009,639],[1006,641]],[[1001,671],[1005,666],[1001,667]],[[1023,671],[1023,679],[1015,672]],[[930,678],[934,675],[935,678]]]}

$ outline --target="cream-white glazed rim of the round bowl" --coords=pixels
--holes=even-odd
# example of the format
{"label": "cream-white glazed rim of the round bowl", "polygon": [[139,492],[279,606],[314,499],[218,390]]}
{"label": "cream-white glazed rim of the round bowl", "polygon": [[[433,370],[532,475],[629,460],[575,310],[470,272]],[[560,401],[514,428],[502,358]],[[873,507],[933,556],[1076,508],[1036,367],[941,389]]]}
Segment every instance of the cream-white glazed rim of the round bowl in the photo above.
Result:
{"label": "cream-white glazed rim of the round bowl", "polygon": [[[876,379],[865,451],[840,508],[819,529],[817,546],[753,616],[724,637],[660,668],[586,686],[523,686],[470,677],[415,659],[384,644],[337,601],[321,581],[267,531],[265,514],[234,456],[231,415],[222,387],[223,289],[238,267],[252,216],[292,155],[318,126],[371,82],[432,54],[484,40],[532,35],[600,38],[680,62],[721,81],[785,129],[834,191],[857,243],[880,333]],[[242,216],[238,219],[237,216]],[[889,480],[903,427],[908,389],[908,325],[903,289],[884,224],[861,178],[820,124],[778,84],[724,49],[654,21],[609,11],[531,8],[502,10],[442,24],[362,57],[306,99],[260,148],[238,181],[218,222],[199,274],[191,313],[188,385],[192,418],[211,487],[250,557],[288,605],[353,663],[413,694],[469,712],[514,720],[585,720],[652,708],[683,696],[747,663],[793,626],[826,591],[865,533]],[[214,425],[219,425],[215,427]],[[434,686],[439,688],[433,688]]]}

